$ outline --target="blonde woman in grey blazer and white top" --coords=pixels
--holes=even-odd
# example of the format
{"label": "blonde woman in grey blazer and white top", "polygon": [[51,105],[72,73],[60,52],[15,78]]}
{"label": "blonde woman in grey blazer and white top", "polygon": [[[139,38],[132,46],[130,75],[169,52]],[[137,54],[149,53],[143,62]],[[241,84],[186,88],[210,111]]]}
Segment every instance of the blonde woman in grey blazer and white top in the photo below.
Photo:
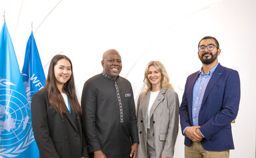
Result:
{"label": "blonde woman in grey blazer and white top", "polygon": [[139,129],[138,158],[173,157],[179,129],[179,99],[169,84],[163,64],[147,64],[144,82],[147,89],[137,102]]}

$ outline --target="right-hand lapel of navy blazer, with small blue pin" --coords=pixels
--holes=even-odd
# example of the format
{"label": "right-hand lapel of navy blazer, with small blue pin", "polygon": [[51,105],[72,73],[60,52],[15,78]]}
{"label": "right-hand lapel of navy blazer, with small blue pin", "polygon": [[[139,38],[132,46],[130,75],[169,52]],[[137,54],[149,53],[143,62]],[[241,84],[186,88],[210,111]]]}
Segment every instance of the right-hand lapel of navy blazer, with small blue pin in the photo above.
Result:
{"label": "right-hand lapel of navy blazer, with small blue pin", "polygon": [[219,80],[219,78],[222,76],[223,74],[223,66],[221,66],[221,64],[219,64],[217,66],[217,68],[215,69],[215,71],[213,72],[213,76],[211,76],[211,79],[209,80],[207,87],[205,89],[205,94],[203,95],[203,100],[202,100],[202,106],[207,98],[207,96],[209,95],[209,93],[211,92],[211,89],[213,88],[213,86],[215,85],[215,83]]}

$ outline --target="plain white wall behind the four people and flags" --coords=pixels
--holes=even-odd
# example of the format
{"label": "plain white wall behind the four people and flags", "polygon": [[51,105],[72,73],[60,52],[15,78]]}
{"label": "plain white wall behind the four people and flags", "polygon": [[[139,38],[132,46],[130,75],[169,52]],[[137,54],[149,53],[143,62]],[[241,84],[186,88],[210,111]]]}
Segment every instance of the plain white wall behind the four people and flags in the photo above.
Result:
{"label": "plain white wall behind the four people and flags", "polygon": [[[55,54],[73,62],[79,100],[84,82],[102,71],[101,58],[109,48],[123,60],[121,76],[130,80],[135,102],[143,89],[149,60],[163,62],[171,82],[183,94],[187,76],[201,68],[199,40],[219,40],[219,62],[239,71],[241,102],[233,126],[235,150],[230,157],[255,157],[256,1],[68,1],[0,0],[0,15],[13,40],[20,69],[25,46],[33,32],[47,75]],[[178,135],[175,157],[183,157],[183,135]]]}

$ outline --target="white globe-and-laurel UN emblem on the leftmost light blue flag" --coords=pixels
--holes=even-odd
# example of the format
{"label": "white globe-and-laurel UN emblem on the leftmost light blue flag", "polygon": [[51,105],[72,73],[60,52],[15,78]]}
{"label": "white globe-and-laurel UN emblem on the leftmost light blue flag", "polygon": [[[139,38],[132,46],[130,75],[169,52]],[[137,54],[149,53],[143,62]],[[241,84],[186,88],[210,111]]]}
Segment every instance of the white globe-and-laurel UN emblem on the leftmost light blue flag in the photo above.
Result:
{"label": "white globe-and-laurel UN emblem on the leftmost light blue flag", "polygon": [[34,141],[27,98],[0,78],[0,157],[17,157]]}

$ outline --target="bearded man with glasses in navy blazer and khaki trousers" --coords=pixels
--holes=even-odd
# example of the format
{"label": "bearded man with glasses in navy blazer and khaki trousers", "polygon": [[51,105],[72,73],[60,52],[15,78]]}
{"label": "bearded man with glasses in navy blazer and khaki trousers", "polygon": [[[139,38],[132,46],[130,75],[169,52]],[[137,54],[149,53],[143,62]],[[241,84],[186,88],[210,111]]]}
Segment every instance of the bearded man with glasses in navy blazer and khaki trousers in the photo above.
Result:
{"label": "bearded man with glasses in navy blazer and khaki trousers", "polygon": [[197,54],[203,67],[187,78],[179,108],[185,158],[229,157],[229,149],[234,149],[231,121],[240,101],[239,74],[219,64],[221,49],[214,37],[203,37]]}

